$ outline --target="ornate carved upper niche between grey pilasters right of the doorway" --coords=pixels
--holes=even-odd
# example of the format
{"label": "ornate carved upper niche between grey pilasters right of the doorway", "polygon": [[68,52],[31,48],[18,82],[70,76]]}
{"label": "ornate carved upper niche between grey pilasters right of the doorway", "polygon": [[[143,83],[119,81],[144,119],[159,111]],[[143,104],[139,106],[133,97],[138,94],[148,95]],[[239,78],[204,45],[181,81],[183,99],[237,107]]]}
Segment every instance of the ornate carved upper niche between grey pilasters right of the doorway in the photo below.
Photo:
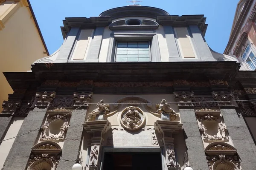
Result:
{"label": "ornate carved upper niche between grey pilasters right of the doorway", "polygon": [[221,112],[214,109],[195,111],[198,128],[204,141],[229,141]]}

